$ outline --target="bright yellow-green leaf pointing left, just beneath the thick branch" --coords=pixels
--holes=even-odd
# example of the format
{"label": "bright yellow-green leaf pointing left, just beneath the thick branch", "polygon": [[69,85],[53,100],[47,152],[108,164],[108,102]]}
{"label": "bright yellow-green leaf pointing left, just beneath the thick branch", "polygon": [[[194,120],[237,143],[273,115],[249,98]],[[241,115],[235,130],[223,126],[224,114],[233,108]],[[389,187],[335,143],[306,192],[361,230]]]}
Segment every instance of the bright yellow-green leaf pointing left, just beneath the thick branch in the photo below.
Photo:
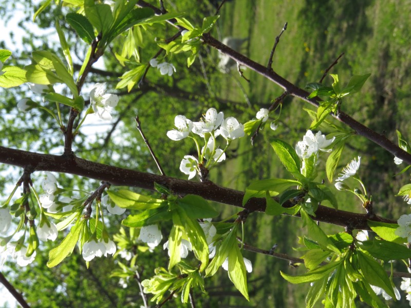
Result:
{"label": "bright yellow-green leaf pointing left, just beneath the thick branch", "polygon": [[107,190],[107,194],[121,208],[145,210],[160,207],[164,203],[164,200],[140,195],[126,189]]}

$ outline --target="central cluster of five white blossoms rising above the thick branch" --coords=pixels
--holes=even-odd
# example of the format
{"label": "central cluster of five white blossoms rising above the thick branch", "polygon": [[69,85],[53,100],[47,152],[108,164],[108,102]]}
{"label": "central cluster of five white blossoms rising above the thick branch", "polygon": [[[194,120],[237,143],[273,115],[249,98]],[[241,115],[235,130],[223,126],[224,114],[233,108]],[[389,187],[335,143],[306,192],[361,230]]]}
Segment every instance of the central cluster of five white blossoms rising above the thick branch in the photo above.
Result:
{"label": "central cluster of five white blossoms rising above the thick branch", "polygon": [[[193,122],[184,115],[177,115],[174,119],[174,125],[176,129],[167,131],[167,137],[171,140],[182,140],[193,133],[204,138],[207,142],[198,153],[199,159],[192,155],[186,155],[181,161],[180,170],[189,176],[189,180],[194,178],[199,171],[198,164],[203,163],[203,159],[208,161],[206,167],[209,166],[209,162],[217,163],[226,159],[225,150],[219,149],[215,145],[216,137],[221,135],[229,144],[234,139],[244,137],[245,134],[244,125],[233,117],[224,119],[224,114],[217,112],[215,108],[207,110],[199,122]],[[194,137],[192,138],[194,139]],[[199,149],[198,143],[197,148]]]}

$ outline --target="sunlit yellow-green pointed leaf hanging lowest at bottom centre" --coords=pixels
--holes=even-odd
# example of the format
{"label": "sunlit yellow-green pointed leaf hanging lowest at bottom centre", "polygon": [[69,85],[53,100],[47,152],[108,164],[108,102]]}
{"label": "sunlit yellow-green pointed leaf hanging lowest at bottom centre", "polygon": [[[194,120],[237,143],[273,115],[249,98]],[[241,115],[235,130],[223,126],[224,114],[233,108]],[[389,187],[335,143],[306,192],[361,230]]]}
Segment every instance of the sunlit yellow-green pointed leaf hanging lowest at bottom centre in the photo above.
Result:
{"label": "sunlit yellow-green pointed leaf hanging lowest at bottom centre", "polygon": [[247,300],[250,300],[247,290],[246,265],[238,245],[233,246],[228,255],[228,277],[234,283],[237,290]]}

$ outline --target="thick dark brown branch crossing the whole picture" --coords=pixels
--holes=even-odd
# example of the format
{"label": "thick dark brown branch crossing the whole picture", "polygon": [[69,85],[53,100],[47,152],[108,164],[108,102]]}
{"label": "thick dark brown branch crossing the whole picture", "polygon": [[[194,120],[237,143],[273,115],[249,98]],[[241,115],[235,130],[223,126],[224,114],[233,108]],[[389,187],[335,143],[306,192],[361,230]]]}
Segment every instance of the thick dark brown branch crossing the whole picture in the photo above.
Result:
{"label": "thick dark brown branch crossing the whole picture", "polygon": [[[154,183],[169,187],[176,194],[194,194],[204,199],[247,208],[250,211],[264,212],[265,198],[251,198],[245,206],[242,205],[244,192],[218,186],[211,181],[193,182],[176,178],[153,175],[146,172],[128,170],[96,162],[87,161],[76,156],[55,156],[28,151],[16,150],[0,146],[0,163],[18,167],[30,166],[33,171],[64,172],[78,176],[109,182],[116,186],[132,186],[143,189],[154,189]],[[291,206],[291,204],[285,204]],[[349,226],[351,229],[369,230],[367,220],[396,223],[396,221],[367,214],[351,213],[326,206],[319,206],[315,212],[317,221],[335,225]]]}

